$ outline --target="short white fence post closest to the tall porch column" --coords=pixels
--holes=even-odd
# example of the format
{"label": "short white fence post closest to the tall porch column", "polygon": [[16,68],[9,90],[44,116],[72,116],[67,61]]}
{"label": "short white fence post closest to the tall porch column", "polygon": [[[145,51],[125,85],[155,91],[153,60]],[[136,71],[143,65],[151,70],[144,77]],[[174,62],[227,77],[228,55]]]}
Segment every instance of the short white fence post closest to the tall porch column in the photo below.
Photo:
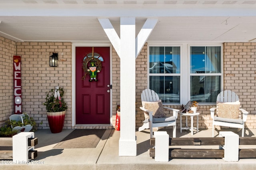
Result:
{"label": "short white fence post closest to the tall porch column", "polygon": [[169,135],[166,131],[154,132],[155,137],[155,161],[169,161]]}

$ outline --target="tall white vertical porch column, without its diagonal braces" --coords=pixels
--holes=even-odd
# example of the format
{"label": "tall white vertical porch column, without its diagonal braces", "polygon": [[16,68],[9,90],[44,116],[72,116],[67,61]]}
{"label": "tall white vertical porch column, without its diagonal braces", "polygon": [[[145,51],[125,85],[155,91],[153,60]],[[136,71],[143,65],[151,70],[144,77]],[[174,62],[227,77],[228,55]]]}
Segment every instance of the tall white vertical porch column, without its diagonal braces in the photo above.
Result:
{"label": "tall white vertical porch column, without its diagonal braces", "polygon": [[120,139],[119,156],[136,156],[135,17],[120,18]]}

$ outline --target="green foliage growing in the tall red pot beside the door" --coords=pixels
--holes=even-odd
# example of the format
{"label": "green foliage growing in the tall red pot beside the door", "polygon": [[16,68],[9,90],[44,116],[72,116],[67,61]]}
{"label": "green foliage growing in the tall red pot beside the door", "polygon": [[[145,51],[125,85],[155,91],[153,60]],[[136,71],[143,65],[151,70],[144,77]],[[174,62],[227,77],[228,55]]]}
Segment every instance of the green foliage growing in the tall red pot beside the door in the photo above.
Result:
{"label": "green foliage growing in the tall red pot beside the door", "polygon": [[66,102],[64,102],[63,95],[64,90],[63,88],[59,87],[60,91],[60,100],[58,98],[54,98],[55,89],[51,89],[49,92],[46,92],[46,102],[43,103],[46,106],[46,111],[48,112],[58,112],[58,111],[65,111],[68,109]]}

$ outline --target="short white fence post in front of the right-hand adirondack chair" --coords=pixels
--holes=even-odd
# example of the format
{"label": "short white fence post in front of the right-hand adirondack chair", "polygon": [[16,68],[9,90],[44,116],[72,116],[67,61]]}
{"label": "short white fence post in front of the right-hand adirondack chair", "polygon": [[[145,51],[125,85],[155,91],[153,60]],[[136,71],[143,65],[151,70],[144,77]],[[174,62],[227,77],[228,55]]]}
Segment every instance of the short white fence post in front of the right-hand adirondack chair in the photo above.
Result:
{"label": "short white fence post in front of the right-hand adirondack chair", "polygon": [[234,132],[220,132],[220,137],[225,137],[225,145],[220,146],[224,149],[223,160],[227,162],[238,161],[239,156],[239,135]]}

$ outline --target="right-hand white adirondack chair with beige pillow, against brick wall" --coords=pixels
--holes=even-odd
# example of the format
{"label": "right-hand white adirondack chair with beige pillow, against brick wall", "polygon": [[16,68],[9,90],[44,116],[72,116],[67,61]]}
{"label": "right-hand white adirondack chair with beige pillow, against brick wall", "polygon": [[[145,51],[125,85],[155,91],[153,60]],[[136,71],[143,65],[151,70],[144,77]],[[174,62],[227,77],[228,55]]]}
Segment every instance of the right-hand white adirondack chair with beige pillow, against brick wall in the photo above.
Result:
{"label": "right-hand white adirondack chair with beige pillow, against brick wall", "polygon": [[[222,104],[222,106],[220,107],[220,104],[218,104],[218,103]],[[239,102],[238,95],[235,92],[232,92],[230,90],[222,91],[217,96],[216,104],[217,104],[217,107],[212,107],[210,109],[210,113],[211,113],[211,117],[212,117],[212,137],[214,137],[215,125],[240,128],[240,129],[242,129],[242,137],[244,137],[244,123],[246,122],[248,111],[240,108],[240,102]],[[227,105],[225,105],[225,104],[227,104]],[[224,112],[222,112],[222,115],[218,114],[218,107],[220,107],[219,109],[224,108],[224,109],[222,109],[224,111]],[[234,116],[232,116],[232,114],[234,114],[234,110],[236,110],[235,107],[240,112],[242,112],[242,118],[240,118],[240,119],[239,118],[238,119],[230,118],[230,117],[234,117]],[[218,114],[218,116],[214,116],[215,110],[216,110],[216,113]],[[219,112],[220,112],[220,110],[219,110]],[[239,131],[239,129],[238,129],[238,131]]]}

